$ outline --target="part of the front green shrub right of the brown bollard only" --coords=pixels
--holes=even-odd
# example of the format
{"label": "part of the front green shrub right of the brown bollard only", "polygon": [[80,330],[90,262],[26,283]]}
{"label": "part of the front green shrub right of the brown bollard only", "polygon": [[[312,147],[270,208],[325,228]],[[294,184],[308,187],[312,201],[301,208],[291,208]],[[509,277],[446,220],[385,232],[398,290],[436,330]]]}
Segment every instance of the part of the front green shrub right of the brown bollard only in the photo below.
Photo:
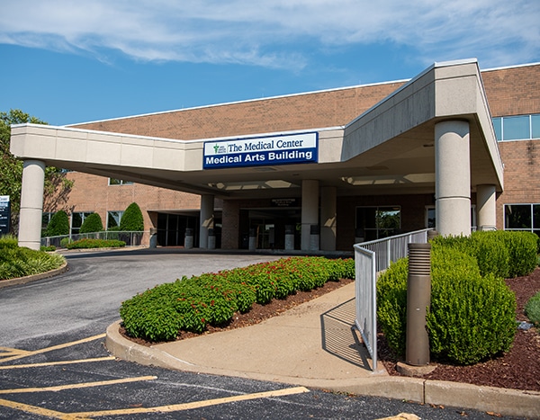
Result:
{"label": "part of the front green shrub right of the brown bollard only", "polygon": [[516,334],[516,298],[502,278],[482,277],[475,260],[437,246],[428,312],[431,353],[473,364],[507,352]]}

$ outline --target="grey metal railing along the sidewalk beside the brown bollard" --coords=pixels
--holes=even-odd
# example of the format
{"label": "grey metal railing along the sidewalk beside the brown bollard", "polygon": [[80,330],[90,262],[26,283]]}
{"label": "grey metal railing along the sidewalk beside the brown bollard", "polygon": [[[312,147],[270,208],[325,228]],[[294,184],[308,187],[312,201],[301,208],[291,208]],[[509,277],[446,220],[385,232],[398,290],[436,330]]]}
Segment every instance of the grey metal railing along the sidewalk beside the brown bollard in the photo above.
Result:
{"label": "grey metal railing along the sidewalk beside the brown bollard", "polygon": [[428,231],[417,230],[355,245],[356,327],[377,370],[377,273],[407,256],[410,243],[428,242]]}

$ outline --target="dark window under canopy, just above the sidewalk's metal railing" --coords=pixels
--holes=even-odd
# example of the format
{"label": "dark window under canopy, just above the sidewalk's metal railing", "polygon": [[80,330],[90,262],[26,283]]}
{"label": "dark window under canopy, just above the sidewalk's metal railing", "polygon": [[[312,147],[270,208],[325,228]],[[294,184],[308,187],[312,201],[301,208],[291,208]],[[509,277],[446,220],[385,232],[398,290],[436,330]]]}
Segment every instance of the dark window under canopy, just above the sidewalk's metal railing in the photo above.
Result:
{"label": "dark window under canopy, just above the sidewalk's metal railing", "polygon": [[382,237],[397,235],[401,229],[401,208],[358,207],[356,208],[357,237],[373,241]]}

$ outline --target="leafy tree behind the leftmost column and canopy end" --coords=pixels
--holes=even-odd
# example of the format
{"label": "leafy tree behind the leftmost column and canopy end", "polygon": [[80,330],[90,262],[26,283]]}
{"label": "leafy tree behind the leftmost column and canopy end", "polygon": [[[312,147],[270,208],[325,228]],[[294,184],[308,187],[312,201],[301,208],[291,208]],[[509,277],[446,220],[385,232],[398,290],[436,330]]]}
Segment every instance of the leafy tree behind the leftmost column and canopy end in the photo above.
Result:
{"label": "leafy tree behind the leftmost column and canopy end", "polygon": [[[36,117],[31,117],[21,110],[0,112],[0,195],[9,195],[11,201],[11,229],[15,233],[19,226],[19,212],[21,210],[21,188],[23,182],[23,161],[18,160],[9,150],[11,139],[11,126],[13,124],[47,124]],[[55,200],[67,201],[67,194],[73,182],[66,178],[66,174],[53,166],[45,169],[44,191],[46,196],[58,197]]]}

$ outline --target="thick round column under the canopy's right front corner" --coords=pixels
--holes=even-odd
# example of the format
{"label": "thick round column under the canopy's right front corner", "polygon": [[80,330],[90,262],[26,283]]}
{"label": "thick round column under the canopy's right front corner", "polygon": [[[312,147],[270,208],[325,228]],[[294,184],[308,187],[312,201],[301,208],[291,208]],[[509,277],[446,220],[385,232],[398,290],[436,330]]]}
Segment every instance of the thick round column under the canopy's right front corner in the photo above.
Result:
{"label": "thick round column under the canopy's right front corner", "polygon": [[471,153],[467,121],[435,125],[436,229],[443,236],[471,235]]}

